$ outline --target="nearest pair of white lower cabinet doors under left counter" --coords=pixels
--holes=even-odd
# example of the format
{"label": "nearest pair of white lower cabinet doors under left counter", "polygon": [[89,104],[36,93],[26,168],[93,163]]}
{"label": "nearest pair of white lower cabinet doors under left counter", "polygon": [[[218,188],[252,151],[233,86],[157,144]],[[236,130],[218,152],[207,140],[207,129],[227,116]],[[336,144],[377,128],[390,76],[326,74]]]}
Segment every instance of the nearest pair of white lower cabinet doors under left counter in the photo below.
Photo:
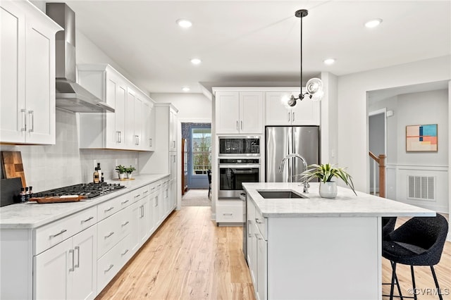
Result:
{"label": "nearest pair of white lower cabinet doors under left counter", "polygon": [[94,299],[97,232],[92,226],[35,256],[35,299]]}

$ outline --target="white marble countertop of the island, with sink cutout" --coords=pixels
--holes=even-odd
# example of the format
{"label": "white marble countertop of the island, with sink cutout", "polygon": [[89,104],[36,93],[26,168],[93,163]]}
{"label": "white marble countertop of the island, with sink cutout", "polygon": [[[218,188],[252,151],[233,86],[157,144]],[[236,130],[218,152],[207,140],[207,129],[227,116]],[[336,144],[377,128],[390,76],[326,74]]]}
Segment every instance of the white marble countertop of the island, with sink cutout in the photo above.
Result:
{"label": "white marble countertop of the island, with sink cutout", "polygon": [[[319,183],[310,182],[309,193],[302,192],[299,182],[247,182],[243,183],[261,215],[266,218],[292,217],[390,217],[390,216],[434,216],[435,211],[399,201],[381,198],[338,187],[335,199],[319,196]],[[294,191],[305,199],[264,199],[258,191]]]}

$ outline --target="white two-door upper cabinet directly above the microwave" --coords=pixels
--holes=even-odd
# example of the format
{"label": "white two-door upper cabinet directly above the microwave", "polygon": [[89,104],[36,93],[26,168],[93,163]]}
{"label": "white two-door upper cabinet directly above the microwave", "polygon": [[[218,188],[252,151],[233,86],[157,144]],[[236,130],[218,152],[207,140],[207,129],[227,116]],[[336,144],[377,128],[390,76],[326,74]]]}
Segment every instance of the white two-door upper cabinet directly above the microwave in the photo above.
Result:
{"label": "white two-door upper cabinet directly above the microwave", "polygon": [[263,92],[216,92],[216,133],[261,134]]}

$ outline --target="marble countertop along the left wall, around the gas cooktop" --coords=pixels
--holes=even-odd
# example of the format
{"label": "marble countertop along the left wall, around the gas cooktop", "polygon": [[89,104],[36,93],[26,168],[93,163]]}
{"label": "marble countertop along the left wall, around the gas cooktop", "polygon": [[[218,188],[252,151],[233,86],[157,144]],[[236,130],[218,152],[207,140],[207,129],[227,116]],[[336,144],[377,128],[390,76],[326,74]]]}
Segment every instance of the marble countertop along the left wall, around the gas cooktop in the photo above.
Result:
{"label": "marble countertop along the left wall, around the gas cooktop", "polygon": [[0,229],[23,229],[35,228],[55,220],[64,218],[73,213],[78,213],[92,206],[97,206],[104,201],[127,194],[133,189],[149,185],[152,182],[161,180],[169,174],[142,174],[137,175],[135,180],[118,181],[109,180],[109,183],[125,185],[125,188],[100,196],[95,199],[86,199],[77,202],[38,204],[37,202],[27,202],[25,204],[11,204],[0,208]]}

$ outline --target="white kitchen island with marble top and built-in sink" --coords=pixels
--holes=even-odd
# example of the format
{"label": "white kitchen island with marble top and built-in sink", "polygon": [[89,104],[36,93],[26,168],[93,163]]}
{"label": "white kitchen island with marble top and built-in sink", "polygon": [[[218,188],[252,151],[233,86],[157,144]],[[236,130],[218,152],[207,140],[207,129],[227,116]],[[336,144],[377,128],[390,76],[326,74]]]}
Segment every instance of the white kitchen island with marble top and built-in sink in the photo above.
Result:
{"label": "white kitchen island with marble top and built-in sink", "polygon": [[[319,183],[243,183],[247,192],[247,262],[257,299],[382,299],[381,218],[435,211]],[[264,199],[261,191],[303,198]]]}

